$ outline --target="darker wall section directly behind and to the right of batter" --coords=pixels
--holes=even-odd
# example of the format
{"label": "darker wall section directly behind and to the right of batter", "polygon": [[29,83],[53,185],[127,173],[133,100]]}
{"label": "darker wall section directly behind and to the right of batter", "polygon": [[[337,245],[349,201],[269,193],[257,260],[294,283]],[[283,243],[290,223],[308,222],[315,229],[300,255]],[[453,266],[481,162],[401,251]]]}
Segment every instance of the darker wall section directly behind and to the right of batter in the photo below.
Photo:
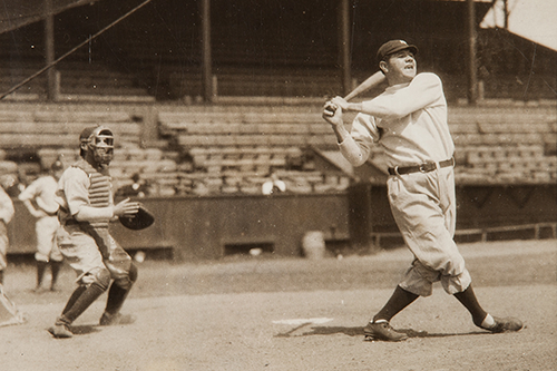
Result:
{"label": "darker wall section directly behind and to the right of batter", "polygon": [[[457,231],[557,223],[555,185],[466,185],[457,186],[456,192]],[[353,185],[349,205],[353,244],[371,246],[374,234],[398,232],[387,186]]]}

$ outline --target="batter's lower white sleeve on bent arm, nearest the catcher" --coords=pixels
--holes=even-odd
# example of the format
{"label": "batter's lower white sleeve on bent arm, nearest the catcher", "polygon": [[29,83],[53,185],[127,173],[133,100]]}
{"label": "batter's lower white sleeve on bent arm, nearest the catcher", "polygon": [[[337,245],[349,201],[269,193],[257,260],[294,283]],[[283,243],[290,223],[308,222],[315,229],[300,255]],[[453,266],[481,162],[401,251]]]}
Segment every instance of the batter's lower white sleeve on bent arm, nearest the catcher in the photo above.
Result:
{"label": "batter's lower white sleeve on bent arm, nearest the catcher", "polygon": [[350,136],[339,144],[339,149],[352,166],[358,167],[365,164],[372,146],[380,137],[375,119],[369,115],[358,114],[352,123]]}

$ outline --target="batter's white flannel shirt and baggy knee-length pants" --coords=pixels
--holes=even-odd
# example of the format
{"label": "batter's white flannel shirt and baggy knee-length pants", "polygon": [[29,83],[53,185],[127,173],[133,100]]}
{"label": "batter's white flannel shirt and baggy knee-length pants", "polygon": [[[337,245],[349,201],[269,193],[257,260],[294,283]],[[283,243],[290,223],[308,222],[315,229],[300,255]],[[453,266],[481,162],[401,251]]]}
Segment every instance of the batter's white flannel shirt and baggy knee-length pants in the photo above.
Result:
{"label": "batter's white flannel shirt and baggy knee-length pants", "polygon": [[[452,157],[455,145],[447,124],[447,101],[437,75],[419,74],[410,84],[391,86],[362,105],[372,115],[356,115],[351,135],[339,144],[353,166],[363,165],[374,145],[383,148],[389,167],[439,163]],[[393,175],[387,185],[393,217],[414,255],[400,286],[422,296],[431,295],[437,281],[449,294],[465,291],[471,279],[453,241],[452,166]]]}

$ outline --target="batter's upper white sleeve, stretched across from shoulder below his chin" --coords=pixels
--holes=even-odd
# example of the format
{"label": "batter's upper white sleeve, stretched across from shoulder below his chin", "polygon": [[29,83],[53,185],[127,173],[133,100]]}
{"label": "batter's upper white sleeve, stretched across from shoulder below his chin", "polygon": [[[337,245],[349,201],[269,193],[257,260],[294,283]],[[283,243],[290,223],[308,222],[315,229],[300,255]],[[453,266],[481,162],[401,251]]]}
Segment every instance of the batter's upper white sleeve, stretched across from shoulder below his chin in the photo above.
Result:
{"label": "batter's upper white sleeve, stretched across from shoulder below his chin", "polygon": [[437,75],[419,74],[408,87],[364,101],[362,111],[389,121],[422,109],[442,96],[442,84]]}

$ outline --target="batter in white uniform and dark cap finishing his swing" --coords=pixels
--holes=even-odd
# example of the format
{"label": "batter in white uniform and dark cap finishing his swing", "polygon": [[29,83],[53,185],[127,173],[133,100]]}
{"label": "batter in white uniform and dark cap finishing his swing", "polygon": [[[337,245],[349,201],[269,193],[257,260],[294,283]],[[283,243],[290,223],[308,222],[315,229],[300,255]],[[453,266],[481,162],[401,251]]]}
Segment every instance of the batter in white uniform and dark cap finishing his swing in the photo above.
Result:
{"label": "batter in white uniform and dark cap finishing his swing", "polygon": [[[391,211],[414,261],[387,304],[364,328],[367,339],[401,341],[391,319],[419,296],[429,296],[440,281],[470,312],[473,323],[491,332],[518,331],[516,319],[491,316],[478,303],[471,279],[455,241],[455,145],[447,124],[447,101],[434,74],[417,74],[417,47],[402,40],[378,50],[389,87],[374,99],[348,102],[335,97],[323,118],[332,125],[342,155],[363,165],[380,146],[389,166]],[[359,113],[349,131],[344,111]],[[332,114],[334,113],[334,114]]]}

